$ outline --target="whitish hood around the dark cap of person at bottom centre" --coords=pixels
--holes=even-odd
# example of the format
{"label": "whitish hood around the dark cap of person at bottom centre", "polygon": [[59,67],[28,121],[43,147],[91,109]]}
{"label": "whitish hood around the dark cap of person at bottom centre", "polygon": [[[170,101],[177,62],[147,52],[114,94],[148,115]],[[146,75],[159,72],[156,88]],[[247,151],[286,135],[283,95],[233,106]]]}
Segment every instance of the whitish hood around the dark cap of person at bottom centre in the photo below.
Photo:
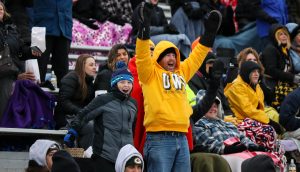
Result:
{"label": "whitish hood around the dark cap of person at bottom centre", "polygon": [[144,161],[142,155],[131,144],[127,144],[122,147],[118,154],[115,164],[116,172],[125,172],[126,163],[133,156],[138,156],[142,160],[142,171],[144,171]]}

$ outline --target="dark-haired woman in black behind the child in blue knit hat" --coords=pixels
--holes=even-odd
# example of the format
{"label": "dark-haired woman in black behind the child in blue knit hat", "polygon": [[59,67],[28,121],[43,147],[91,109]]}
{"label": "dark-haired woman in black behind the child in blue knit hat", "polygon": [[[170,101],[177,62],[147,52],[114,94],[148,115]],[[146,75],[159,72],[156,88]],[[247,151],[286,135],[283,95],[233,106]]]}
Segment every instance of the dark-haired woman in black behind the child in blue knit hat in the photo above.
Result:
{"label": "dark-haired woman in black behind the child in blue knit hat", "polygon": [[114,45],[109,53],[107,62],[99,66],[98,74],[95,79],[95,90],[111,90],[111,74],[115,71],[116,63],[123,61],[126,65],[129,61],[129,53],[124,44]]}

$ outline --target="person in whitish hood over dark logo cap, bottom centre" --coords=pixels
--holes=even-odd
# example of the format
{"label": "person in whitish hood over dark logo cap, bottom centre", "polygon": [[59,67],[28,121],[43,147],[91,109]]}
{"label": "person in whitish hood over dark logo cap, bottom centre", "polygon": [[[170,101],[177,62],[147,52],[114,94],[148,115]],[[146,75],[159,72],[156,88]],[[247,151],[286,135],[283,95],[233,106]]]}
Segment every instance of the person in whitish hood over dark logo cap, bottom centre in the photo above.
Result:
{"label": "person in whitish hood over dark logo cap, bottom centre", "polygon": [[115,170],[116,172],[143,172],[142,155],[130,144],[123,146],[118,154]]}

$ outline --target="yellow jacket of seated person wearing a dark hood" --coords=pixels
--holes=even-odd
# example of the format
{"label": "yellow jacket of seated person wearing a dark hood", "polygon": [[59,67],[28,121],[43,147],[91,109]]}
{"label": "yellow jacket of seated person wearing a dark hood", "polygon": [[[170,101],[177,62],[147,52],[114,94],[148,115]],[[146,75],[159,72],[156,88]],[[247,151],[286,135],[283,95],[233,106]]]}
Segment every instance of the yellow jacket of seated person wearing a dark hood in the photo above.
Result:
{"label": "yellow jacket of seated person wearing a dark hood", "polygon": [[238,75],[232,83],[227,84],[224,94],[238,119],[248,117],[264,124],[269,123],[269,117],[264,111],[264,94],[259,84],[255,91]]}

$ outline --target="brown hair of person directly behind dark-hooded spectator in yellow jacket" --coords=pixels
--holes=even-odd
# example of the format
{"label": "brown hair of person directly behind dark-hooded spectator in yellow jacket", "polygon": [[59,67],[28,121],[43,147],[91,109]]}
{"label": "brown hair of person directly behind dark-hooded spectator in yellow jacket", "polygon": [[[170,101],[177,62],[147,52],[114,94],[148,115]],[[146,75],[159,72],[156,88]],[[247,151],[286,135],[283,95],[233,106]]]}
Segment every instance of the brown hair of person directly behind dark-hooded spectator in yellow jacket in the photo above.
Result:
{"label": "brown hair of person directly behind dark-hooded spectator in yellow jacket", "polygon": [[251,47],[245,48],[237,55],[237,63],[239,65],[239,68],[241,67],[241,64],[244,63],[247,59],[248,54],[253,54],[256,58],[257,64],[260,66],[260,74],[263,74],[265,71],[264,66],[262,65],[259,55],[257,51]]}

